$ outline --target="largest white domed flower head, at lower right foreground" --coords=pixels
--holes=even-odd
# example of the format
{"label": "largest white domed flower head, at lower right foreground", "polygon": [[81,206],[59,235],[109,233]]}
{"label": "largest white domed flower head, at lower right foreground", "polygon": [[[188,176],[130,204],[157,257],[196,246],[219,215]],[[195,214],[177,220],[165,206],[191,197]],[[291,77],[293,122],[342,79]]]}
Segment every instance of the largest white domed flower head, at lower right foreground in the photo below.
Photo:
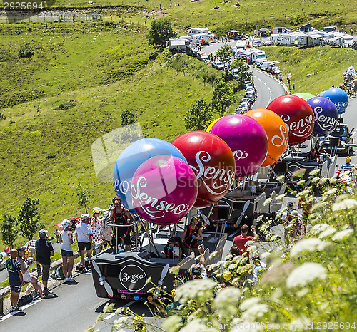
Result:
{"label": "largest white domed flower head, at lower right foreground", "polygon": [[296,286],[305,286],[314,279],[325,279],[327,276],[326,269],[317,263],[305,263],[294,269],[286,279],[288,288]]}

